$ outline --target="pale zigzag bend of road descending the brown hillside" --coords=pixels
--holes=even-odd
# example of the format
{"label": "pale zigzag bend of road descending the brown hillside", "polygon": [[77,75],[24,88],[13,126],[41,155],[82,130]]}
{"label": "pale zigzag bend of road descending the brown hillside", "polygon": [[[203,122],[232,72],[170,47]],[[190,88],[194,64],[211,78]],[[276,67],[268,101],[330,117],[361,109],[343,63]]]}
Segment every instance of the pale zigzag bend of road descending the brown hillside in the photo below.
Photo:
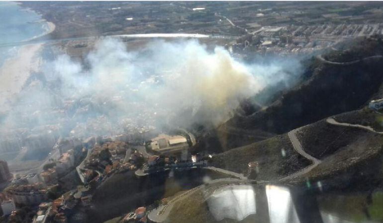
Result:
{"label": "pale zigzag bend of road descending the brown hillside", "polygon": [[287,133],[288,135],[288,138],[290,139],[291,141],[291,144],[292,144],[292,147],[294,148],[294,150],[299,153],[300,155],[302,155],[304,158],[310,160],[312,162],[312,164],[308,167],[305,167],[291,175],[288,175],[284,178],[282,178],[281,180],[286,180],[286,179],[291,179],[291,178],[294,178],[294,177],[297,177],[297,176],[300,176],[300,175],[303,175],[309,171],[311,171],[311,169],[315,168],[316,166],[318,166],[321,161],[316,159],[315,157],[312,157],[311,155],[307,154],[303,148],[302,148],[302,145],[300,144],[299,142],[299,139],[296,137],[296,132],[299,130],[300,128],[297,128],[297,129],[294,129],[294,130],[291,130]]}

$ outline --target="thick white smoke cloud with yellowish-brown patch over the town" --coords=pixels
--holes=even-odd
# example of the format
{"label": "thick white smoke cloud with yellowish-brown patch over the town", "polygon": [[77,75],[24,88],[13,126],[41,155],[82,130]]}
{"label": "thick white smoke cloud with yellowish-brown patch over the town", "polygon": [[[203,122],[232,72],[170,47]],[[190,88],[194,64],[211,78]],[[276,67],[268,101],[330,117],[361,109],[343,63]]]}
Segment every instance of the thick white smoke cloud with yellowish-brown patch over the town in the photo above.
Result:
{"label": "thick white smoke cloud with yellowish-brown patch over the town", "polygon": [[[86,60],[84,66],[61,55],[46,62],[42,72],[49,86],[35,86],[23,96],[24,102],[38,97],[43,105],[34,108],[28,103],[28,110],[54,110],[70,99],[81,108],[69,114],[76,123],[103,115],[116,123],[153,120],[157,127],[217,125],[241,100],[276,83],[293,83],[300,70],[297,60],[245,64],[221,47],[209,52],[192,40],[153,41],[131,51],[117,39],[104,39]],[[52,118],[42,112],[35,124],[47,124]],[[8,121],[17,119],[10,115]],[[113,121],[105,125],[113,129]]]}

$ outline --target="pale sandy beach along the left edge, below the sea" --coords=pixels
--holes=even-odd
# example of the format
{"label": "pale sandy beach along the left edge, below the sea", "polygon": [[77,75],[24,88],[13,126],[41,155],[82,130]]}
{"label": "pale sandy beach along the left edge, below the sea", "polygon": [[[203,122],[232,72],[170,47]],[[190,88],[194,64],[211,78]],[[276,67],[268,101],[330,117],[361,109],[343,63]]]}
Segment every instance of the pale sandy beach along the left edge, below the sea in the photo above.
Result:
{"label": "pale sandy beach along the left edge, below the sea", "polygon": [[0,112],[9,110],[9,101],[22,90],[30,74],[38,71],[42,62],[38,56],[42,45],[21,47],[17,56],[7,59],[0,67]]}

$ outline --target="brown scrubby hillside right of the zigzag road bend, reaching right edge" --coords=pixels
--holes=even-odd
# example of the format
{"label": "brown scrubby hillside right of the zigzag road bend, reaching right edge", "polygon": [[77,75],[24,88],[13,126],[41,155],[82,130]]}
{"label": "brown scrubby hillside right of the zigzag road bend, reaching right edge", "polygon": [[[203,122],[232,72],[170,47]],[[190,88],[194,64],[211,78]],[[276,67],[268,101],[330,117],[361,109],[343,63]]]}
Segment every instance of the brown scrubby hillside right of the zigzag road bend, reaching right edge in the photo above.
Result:
{"label": "brown scrubby hillside right of the zigzag road bend, reaching right edge", "polygon": [[[374,126],[377,114],[368,108],[333,116],[336,121]],[[326,189],[369,190],[382,185],[383,135],[353,126],[330,124],[326,119],[302,127],[299,141],[305,152],[322,161],[300,177],[321,181]]]}

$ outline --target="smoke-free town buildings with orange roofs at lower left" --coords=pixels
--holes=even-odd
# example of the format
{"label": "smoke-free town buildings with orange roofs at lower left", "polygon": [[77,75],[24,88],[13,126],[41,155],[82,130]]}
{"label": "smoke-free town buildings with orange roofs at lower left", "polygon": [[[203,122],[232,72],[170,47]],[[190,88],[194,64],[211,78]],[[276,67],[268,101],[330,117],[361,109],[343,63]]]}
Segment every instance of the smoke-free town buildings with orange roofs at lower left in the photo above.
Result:
{"label": "smoke-free town buildings with orange roofs at lower left", "polygon": [[[194,136],[184,129],[173,133],[149,139],[156,131],[148,131],[139,136],[140,140],[129,134],[89,137],[83,141],[60,137],[52,151],[59,154],[57,159],[50,157],[38,168],[40,172],[32,170],[33,173],[24,175],[13,176],[7,163],[1,161],[1,182],[8,182],[0,196],[2,216],[7,216],[10,222],[23,221],[29,214],[17,207],[36,207],[33,223],[82,222],[86,210],[92,209],[92,194],[113,174],[133,171],[139,178],[170,169],[207,167],[209,155],[190,153],[195,145]],[[123,222],[146,223],[146,213],[146,207],[137,207]]]}

